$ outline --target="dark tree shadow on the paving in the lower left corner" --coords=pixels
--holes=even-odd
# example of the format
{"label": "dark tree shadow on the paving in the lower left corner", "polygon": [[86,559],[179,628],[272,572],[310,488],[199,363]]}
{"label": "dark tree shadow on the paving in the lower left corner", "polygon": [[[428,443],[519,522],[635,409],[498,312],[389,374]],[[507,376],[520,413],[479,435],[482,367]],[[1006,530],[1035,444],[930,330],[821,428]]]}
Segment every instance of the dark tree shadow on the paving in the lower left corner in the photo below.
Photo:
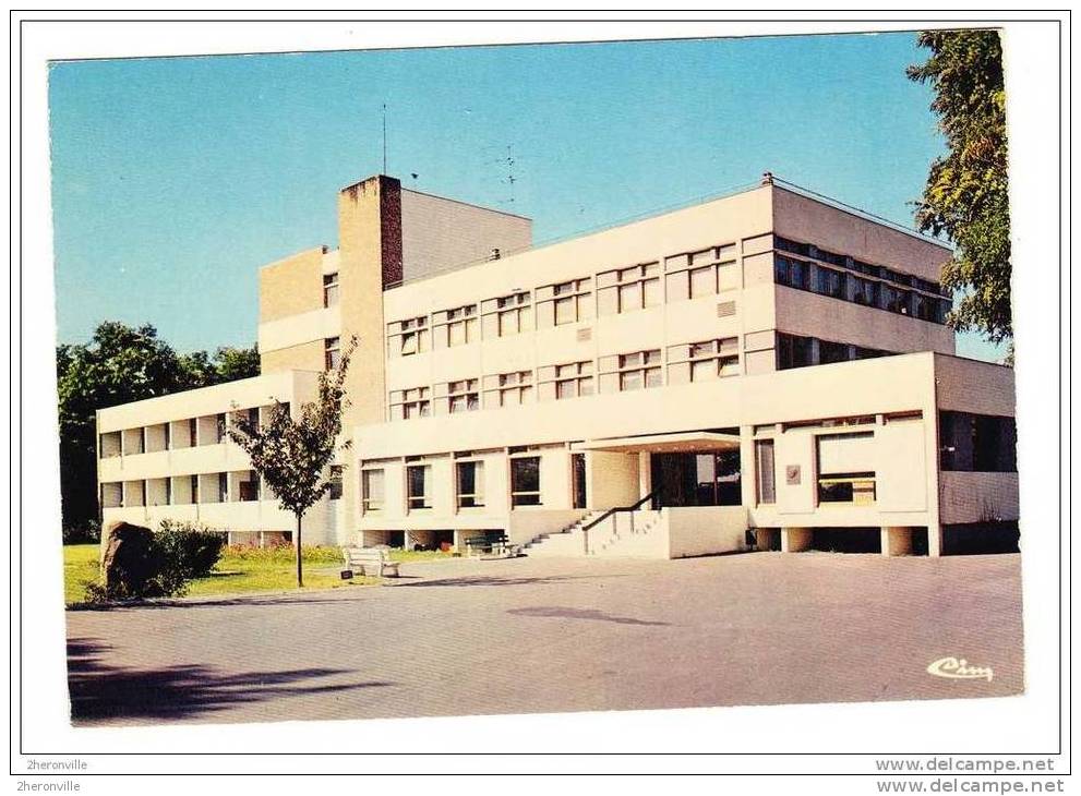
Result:
{"label": "dark tree shadow on the paving in the lower left corner", "polygon": [[100,653],[105,649],[107,646],[98,639],[79,638],[68,642],[68,689],[74,724],[103,719],[189,719],[241,703],[396,685],[313,683],[350,673],[340,668],[232,674],[200,665],[122,668],[103,663]]}

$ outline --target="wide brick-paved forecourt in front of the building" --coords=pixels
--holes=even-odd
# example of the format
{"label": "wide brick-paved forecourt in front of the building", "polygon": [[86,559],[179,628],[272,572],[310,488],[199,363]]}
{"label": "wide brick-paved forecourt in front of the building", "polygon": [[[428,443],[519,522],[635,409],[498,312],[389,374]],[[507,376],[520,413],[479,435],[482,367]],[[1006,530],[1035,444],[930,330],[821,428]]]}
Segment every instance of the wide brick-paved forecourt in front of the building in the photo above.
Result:
{"label": "wide brick-paved forecourt in front of the building", "polygon": [[[68,614],[77,723],[1018,694],[1019,556],[451,560],[393,587]],[[954,655],[986,679],[927,674]]]}

